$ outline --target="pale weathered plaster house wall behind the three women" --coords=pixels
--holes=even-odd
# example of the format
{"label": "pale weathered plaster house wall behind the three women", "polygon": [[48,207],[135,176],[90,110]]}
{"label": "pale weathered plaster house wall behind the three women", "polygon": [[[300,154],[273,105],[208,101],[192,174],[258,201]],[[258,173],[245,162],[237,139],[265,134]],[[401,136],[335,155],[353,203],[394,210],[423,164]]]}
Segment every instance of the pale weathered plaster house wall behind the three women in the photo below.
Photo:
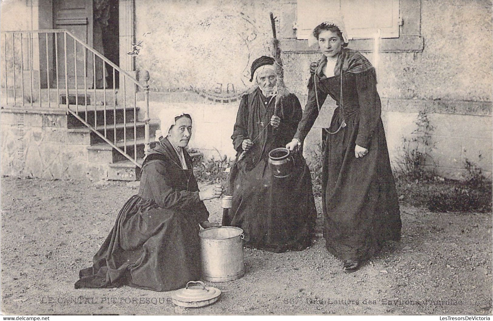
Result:
{"label": "pale weathered plaster house wall behind the three women", "polygon": [[[382,119],[391,160],[399,157],[403,137],[412,135],[418,112],[423,110],[436,127],[433,132],[436,148],[432,157],[439,173],[461,176],[467,158],[491,175],[491,3],[481,0],[405,0],[401,4],[403,2],[410,6],[421,5],[417,32],[424,39],[424,47],[415,52],[395,48],[378,57],[378,90],[383,101]],[[214,90],[221,90],[219,85],[227,81],[219,79],[218,75],[241,72],[231,62],[237,61],[243,66],[245,55],[269,55],[269,11],[278,13],[278,35],[283,39],[295,37],[292,29],[296,19],[295,0],[228,3],[170,0],[166,4],[155,0],[137,1],[136,38],[143,40],[144,47],[136,57],[136,66],[150,72],[151,90],[156,91],[151,93],[151,118],[157,118],[160,108],[191,110],[196,127],[191,144],[205,150],[209,156],[219,153],[233,157],[235,152],[229,137],[238,102],[215,103],[208,100],[211,97],[203,98],[193,90],[213,95]],[[228,14],[231,15],[229,20],[224,19]],[[238,15],[244,15],[255,26],[257,36],[263,37],[247,52],[238,50],[241,45],[235,35],[242,27],[235,19]],[[216,26],[213,34],[202,33],[204,26],[213,27],[219,21],[217,17],[221,17],[222,26]],[[409,21],[404,21],[406,23]],[[213,46],[204,46],[208,43]],[[287,51],[283,54],[285,83],[304,106],[308,66],[319,54],[313,50],[289,52],[296,50],[282,49]],[[376,59],[371,52],[364,55],[372,62]],[[246,83],[245,87],[248,85]],[[323,108],[307,138],[307,155],[320,143],[320,128],[330,122],[334,103],[328,100]]]}

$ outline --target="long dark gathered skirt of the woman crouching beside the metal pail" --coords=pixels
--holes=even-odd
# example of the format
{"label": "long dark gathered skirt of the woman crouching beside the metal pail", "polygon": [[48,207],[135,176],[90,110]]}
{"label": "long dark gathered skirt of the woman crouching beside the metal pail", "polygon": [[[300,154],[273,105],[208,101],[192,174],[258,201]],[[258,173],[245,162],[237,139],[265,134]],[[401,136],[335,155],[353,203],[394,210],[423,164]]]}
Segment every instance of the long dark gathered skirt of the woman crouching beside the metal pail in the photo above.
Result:
{"label": "long dark gathered skirt of the woman crouching beside the metal pail", "polygon": [[154,291],[184,287],[200,277],[199,226],[186,215],[132,196],[123,206],[79,287],[129,285]]}

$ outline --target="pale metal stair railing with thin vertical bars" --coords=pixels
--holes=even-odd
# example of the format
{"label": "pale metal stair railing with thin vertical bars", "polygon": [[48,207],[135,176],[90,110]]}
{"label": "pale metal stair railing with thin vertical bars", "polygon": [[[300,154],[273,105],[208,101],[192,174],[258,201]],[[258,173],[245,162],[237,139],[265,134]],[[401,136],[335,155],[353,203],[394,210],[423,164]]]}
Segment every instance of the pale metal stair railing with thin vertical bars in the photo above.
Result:
{"label": "pale metal stair railing with thin vertical bars", "polygon": [[[55,41],[55,66],[56,66],[56,69],[55,69],[55,74],[56,74],[56,90],[57,90],[57,96],[60,97],[60,92],[59,92],[59,62],[58,62],[58,43],[57,43],[57,39],[59,38],[58,35],[63,35],[63,46],[64,46],[64,56],[63,56],[63,62],[62,62],[62,70],[63,72],[65,72],[65,104],[63,105],[67,105],[66,109],[67,109],[67,112],[68,114],[71,114],[72,116],[74,116],[77,120],[79,120],[83,125],[85,125],[87,128],[89,128],[92,132],[94,132],[100,139],[102,139],[104,142],[108,143],[113,149],[117,150],[120,154],[122,154],[126,159],[128,159],[129,161],[131,161],[132,163],[134,163],[137,167],[141,167],[141,164],[139,164],[139,162],[137,162],[137,155],[138,155],[138,152],[137,152],[137,96],[136,96],[136,91],[137,91],[137,87],[141,88],[141,90],[143,91],[144,93],[144,104],[145,104],[145,107],[144,107],[144,119],[143,119],[143,122],[144,122],[144,155],[147,155],[148,152],[149,152],[149,147],[150,147],[150,138],[149,138],[149,122],[150,122],[150,118],[149,118],[149,85],[148,85],[148,80],[149,80],[149,73],[148,71],[142,71],[141,74],[140,74],[140,78],[141,78],[141,81],[138,80],[136,77],[132,76],[129,72],[127,71],[124,71],[122,70],[119,66],[117,66],[115,63],[111,62],[108,58],[106,58],[102,53],[98,52],[96,49],[92,48],[91,46],[89,46],[87,43],[85,43],[84,41],[82,41],[81,39],[79,39],[77,36],[74,36],[70,31],[68,30],[65,30],[65,29],[46,29],[46,30],[20,30],[20,31],[1,31],[0,32],[0,35],[3,35],[5,37],[5,90],[6,90],[6,95],[5,95],[5,103],[8,104],[8,101],[7,101],[7,97],[8,97],[8,83],[7,83],[7,54],[6,54],[6,43],[7,43],[7,35],[6,34],[9,34],[9,35],[12,35],[12,62],[11,62],[11,68],[12,68],[12,74],[13,74],[13,83],[10,84],[12,85],[13,87],[13,95],[14,95],[14,105],[16,104],[16,91],[15,91],[15,87],[16,87],[16,81],[15,81],[15,71],[16,71],[16,67],[15,67],[15,63],[14,63],[14,58],[15,58],[15,51],[14,51],[14,40],[15,40],[15,36],[20,34],[20,45],[21,45],[21,48],[22,48],[22,44],[23,44],[23,41],[22,41],[22,38],[23,38],[23,34],[29,34],[29,63],[30,63],[30,67],[29,67],[29,71],[30,71],[30,90],[31,90],[31,96],[30,97],[30,102],[31,102],[31,106],[33,107],[33,39],[37,38],[37,37],[43,37],[42,34],[46,34],[45,36],[45,42],[46,42],[46,89],[47,89],[47,96],[48,96],[48,106],[50,106],[50,71],[49,71],[49,51],[48,51],[48,34],[51,34],[51,36],[54,37],[54,41]],[[36,36],[37,35],[37,36]],[[74,54],[74,61],[73,61],[73,66],[70,65],[70,70],[71,68],[74,68],[73,69],[73,72],[74,72],[74,75],[75,75],[75,79],[74,79],[74,82],[75,82],[75,104],[73,103],[70,103],[69,102],[69,78],[68,78],[68,71],[69,71],[69,61],[67,60],[67,44],[68,42],[70,41],[67,41],[67,36],[71,37],[73,39],[73,54]],[[9,36],[10,37],[10,36]],[[27,35],[26,35],[27,37]],[[86,66],[86,59],[87,59],[87,50],[89,50],[90,52],[93,53],[92,55],[92,81],[93,81],[93,88],[94,88],[94,125],[93,124],[90,124],[88,122],[88,109],[87,109],[87,83],[86,83],[86,80],[87,80],[87,75],[84,76],[84,105],[85,105],[85,117],[81,117],[78,113],[79,113],[79,109],[78,109],[78,85],[77,85],[77,43],[78,45],[81,45],[83,47],[83,51],[84,51],[84,74],[86,74],[87,72],[87,66]],[[21,50],[21,53],[20,53],[20,56],[21,56],[21,76],[22,78],[24,77],[24,63],[23,63],[23,50]],[[99,59],[101,59],[102,61],[102,64],[103,64],[103,77],[106,77],[106,66],[109,66],[109,68],[112,68],[112,75],[113,75],[113,127],[112,127],[112,130],[113,130],[113,133],[112,133],[112,141],[110,139],[108,139],[108,133],[107,133],[107,129],[106,129],[106,123],[107,123],[107,119],[106,119],[106,80],[103,80],[103,111],[104,111],[104,119],[103,119],[103,122],[104,122],[104,133],[100,133],[99,130],[102,130],[102,128],[98,128],[98,108],[97,108],[97,80],[96,80],[96,57],[98,57]],[[71,64],[71,62],[70,62]],[[122,94],[123,94],[123,148],[119,148],[117,146],[117,141],[116,141],[116,137],[117,137],[117,126],[116,126],[116,91],[115,91],[115,71],[118,71],[120,76],[121,76],[121,79],[123,80],[123,84],[120,84],[122,88]],[[42,93],[41,93],[41,65],[39,65],[39,71],[38,71],[38,89],[39,89],[39,108],[41,108],[41,101],[43,100],[42,98]],[[73,75],[71,76],[73,77]],[[130,83],[126,83],[126,80],[130,80]],[[99,78],[98,78],[99,79]],[[104,78],[103,78],[104,79]],[[17,82],[18,83],[18,82]],[[131,122],[133,123],[128,123],[128,124],[132,124],[133,127],[134,127],[134,141],[133,141],[133,152],[134,152],[134,155],[133,157],[131,157],[129,154],[127,154],[127,120],[126,120],[126,116],[127,116],[127,84],[128,85],[131,85],[134,87],[134,100],[133,100],[133,120],[131,120]],[[44,85],[43,85],[44,86]],[[43,87],[44,88],[44,87]],[[24,79],[22,79],[22,96],[24,97]],[[130,102],[129,102],[130,103]],[[24,100],[22,102],[23,106],[24,106]],[[60,104],[60,102],[58,103],[58,106],[61,107],[62,104]],[[72,106],[71,106],[72,105]],[[93,105],[93,104],[91,104]],[[119,104],[118,104],[119,105]],[[72,107],[74,106],[74,110],[72,110]],[[122,150],[123,149],[123,150]]]}

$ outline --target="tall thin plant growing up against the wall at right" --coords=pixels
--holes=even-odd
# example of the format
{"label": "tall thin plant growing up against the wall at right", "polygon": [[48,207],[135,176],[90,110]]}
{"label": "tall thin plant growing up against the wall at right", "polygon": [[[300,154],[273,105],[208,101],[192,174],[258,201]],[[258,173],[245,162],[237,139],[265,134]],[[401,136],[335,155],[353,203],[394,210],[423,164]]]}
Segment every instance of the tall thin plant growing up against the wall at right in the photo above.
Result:
{"label": "tall thin plant growing up against the wall at right", "polygon": [[425,167],[435,148],[431,134],[435,127],[431,125],[425,111],[420,111],[412,132],[412,138],[402,138],[402,153],[397,159],[396,177],[408,180],[428,181],[435,177],[434,171]]}

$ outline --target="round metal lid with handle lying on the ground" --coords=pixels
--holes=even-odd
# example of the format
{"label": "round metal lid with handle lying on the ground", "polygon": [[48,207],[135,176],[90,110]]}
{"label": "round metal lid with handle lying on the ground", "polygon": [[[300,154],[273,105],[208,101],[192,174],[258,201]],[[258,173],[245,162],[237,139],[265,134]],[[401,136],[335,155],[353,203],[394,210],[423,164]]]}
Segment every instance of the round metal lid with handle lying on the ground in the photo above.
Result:
{"label": "round metal lid with handle lying on the ground", "polygon": [[[191,283],[199,285],[188,286]],[[184,288],[171,294],[171,300],[177,306],[184,308],[200,308],[212,304],[219,299],[221,290],[213,286],[206,286],[202,281],[190,281]]]}

